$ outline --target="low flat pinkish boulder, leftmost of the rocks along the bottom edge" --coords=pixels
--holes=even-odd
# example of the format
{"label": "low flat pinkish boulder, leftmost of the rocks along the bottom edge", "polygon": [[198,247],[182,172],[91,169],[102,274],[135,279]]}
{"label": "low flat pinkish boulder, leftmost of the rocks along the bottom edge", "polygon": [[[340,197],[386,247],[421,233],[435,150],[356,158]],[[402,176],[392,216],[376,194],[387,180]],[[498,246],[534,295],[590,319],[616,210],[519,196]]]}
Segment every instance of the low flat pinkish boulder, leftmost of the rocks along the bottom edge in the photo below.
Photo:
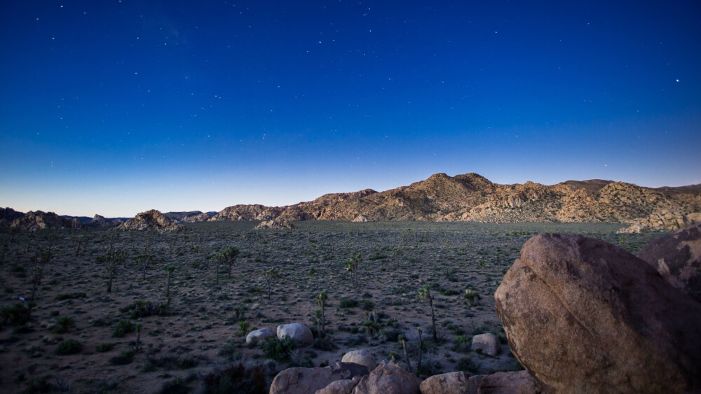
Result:
{"label": "low flat pinkish boulder, leftmost of the rocks along the bottom edge", "polygon": [[275,375],[270,394],[308,394],[325,388],[333,381],[362,377],[369,373],[364,365],[336,363],[322,368],[287,368]]}

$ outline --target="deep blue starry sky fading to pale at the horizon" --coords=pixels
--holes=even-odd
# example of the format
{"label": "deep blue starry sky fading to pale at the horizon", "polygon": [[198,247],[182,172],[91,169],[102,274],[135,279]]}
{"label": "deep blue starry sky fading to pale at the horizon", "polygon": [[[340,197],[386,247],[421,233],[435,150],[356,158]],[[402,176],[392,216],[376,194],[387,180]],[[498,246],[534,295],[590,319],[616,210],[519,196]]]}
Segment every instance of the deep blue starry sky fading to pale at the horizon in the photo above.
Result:
{"label": "deep blue starry sky fading to pale at the horizon", "polygon": [[2,1],[0,206],[701,183],[700,4]]}

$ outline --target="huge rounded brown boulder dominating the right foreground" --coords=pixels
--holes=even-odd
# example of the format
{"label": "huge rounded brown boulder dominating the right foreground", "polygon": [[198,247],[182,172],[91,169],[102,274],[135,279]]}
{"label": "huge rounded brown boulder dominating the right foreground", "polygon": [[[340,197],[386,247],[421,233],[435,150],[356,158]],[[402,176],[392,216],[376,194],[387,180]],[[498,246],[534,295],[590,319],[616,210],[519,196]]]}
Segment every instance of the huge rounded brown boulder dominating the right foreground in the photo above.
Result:
{"label": "huge rounded brown boulder dominating the right foreground", "polygon": [[495,298],[512,352],[548,393],[701,390],[701,304],[622,248],[540,234]]}

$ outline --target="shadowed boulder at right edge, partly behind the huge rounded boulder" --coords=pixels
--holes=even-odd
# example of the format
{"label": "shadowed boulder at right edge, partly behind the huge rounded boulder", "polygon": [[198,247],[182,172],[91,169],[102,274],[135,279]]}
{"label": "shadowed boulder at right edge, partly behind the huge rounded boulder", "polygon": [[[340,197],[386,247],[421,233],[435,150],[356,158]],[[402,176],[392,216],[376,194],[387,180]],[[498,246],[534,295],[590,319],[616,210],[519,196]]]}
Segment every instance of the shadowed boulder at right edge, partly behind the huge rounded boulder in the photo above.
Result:
{"label": "shadowed boulder at right edge, partly behind the huge rounded boulder", "polygon": [[670,285],[701,302],[701,223],[653,239],[638,257]]}

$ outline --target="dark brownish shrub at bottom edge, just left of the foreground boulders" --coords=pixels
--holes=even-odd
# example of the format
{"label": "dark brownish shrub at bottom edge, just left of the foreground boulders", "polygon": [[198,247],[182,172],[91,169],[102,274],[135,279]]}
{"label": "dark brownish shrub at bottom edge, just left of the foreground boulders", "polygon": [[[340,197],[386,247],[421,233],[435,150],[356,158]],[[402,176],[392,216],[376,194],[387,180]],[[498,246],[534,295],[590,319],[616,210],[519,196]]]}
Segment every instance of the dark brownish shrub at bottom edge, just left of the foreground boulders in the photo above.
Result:
{"label": "dark brownish shrub at bottom edge, just left of the foreground boulders", "polygon": [[[274,367],[274,365],[273,365]],[[222,370],[214,370],[202,377],[203,394],[266,394],[268,382],[266,375],[270,367],[263,363],[252,365],[242,361],[233,363]]]}

